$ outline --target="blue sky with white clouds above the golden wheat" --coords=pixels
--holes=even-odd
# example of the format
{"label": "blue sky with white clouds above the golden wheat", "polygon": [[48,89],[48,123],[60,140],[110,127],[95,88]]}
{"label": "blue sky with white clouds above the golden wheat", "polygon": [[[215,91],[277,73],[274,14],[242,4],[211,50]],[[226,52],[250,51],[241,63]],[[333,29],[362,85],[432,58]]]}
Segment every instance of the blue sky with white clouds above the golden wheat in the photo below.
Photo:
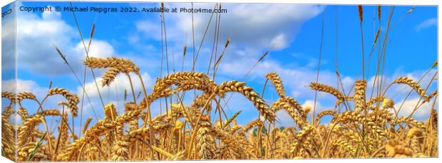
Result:
{"label": "blue sky with white clouds above the golden wheat", "polygon": [[[63,2],[22,2],[17,5],[69,6],[68,3]],[[138,9],[160,6],[160,4],[85,4],[80,2],[73,5],[118,7],[118,9],[120,6],[137,7]],[[165,4],[165,6],[190,8],[190,4]],[[195,8],[204,9],[213,9],[214,6],[215,4],[194,4]],[[308,85],[316,80],[322,22],[324,22],[324,40],[319,82],[336,86],[336,75],[334,73],[336,36],[339,73],[344,88],[348,92],[354,80],[361,79],[358,76],[361,72],[361,31],[357,6],[222,4],[222,7],[227,9],[228,12],[221,16],[218,56],[227,38],[230,37],[232,41],[225,51],[225,58],[223,58],[220,65],[220,71],[215,78],[215,82],[242,80],[247,70],[252,67],[258,58],[265,51],[269,51],[269,55],[252,70],[245,82],[255,88],[258,93],[261,93],[265,74],[274,71],[281,75],[287,95],[297,99],[302,105],[312,105],[314,91],[310,90]],[[385,75],[389,80],[404,75],[418,80],[437,60],[437,7],[416,6],[416,9],[406,14],[411,8],[412,6],[394,7],[389,34],[386,38]],[[381,35],[379,36],[381,43],[384,43],[389,9],[392,9],[391,6],[381,7]],[[376,10],[376,6],[364,6],[362,26],[366,56],[371,51],[375,33],[379,28]],[[90,55],[98,57],[118,56],[131,59],[140,66],[148,92],[150,92],[155,83],[155,78],[160,76],[160,14],[76,12],[76,16],[86,41],[92,24],[96,20],[96,30]],[[200,45],[202,34],[210,16],[210,14],[194,14],[196,48]],[[2,23],[7,24],[8,19],[2,19]],[[17,13],[17,23],[19,24],[17,27],[17,39],[19,39],[17,45],[18,89],[31,91],[36,93],[39,98],[43,98],[48,83],[52,80],[54,87],[67,88],[73,93],[81,94],[81,87],[79,87],[76,79],[68,67],[62,63],[61,58],[51,45],[52,43],[55,44],[65,53],[66,58],[73,65],[78,75],[83,74],[81,61],[84,59],[85,53],[72,13],[26,13],[19,11]],[[187,55],[184,59],[184,70],[191,70],[190,64],[193,51],[191,15],[165,14],[165,24],[168,35],[170,73],[173,72],[174,68],[176,71],[181,69],[182,53],[185,45],[187,46]],[[213,17],[205,41],[202,43],[195,68],[197,71],[207,71],[212,52],[214,26],[215,17]],[[5,39],[8,38],[2,36],[2,40]],[[374,58],[380,51],[377,45],[379,44],[376,43],[372,58],[370,60],[366,58],[366,78],[368,79],[374,77],[376,66]],[[5,55],[6,52],[2,51],[2,53]],[[3,70],[8,70],[10,67],[11,64],[3,63]],[[101,75],[103,70],[96,70],[96,72]],[[165,74],[167,73],[165,67],[163,67],[162,76]],[[434,71],[430,73],[430,77],[433,74]],[[426,85],[430,81],[430,77],[425,78],[422,85]],[[98,101],[96,88],[94,88],[91,78],[91,74],[88,73],[86,91],[93,101],[92,105],[96,114],[98,117],[103,117],[101,104]],[[7,89],[4,85],[11,85],[11,80],[8,79],[3,77],[3,90]],[[105,102],[114,102],[118,110],[122,111],[124,89],[128,89],[127,79],[125,76],[119,75],[110,88],[102,88]],[[138,80],[135,81],[135,89],[137,89],[137,93],[140,90]],[[435,89],[436,84],[431,85],[428,93]],[[401,96],[401,94],[406,94],[409,90],[409,88],[399,85],[391,88],[387,95],[391,95],[391,98],[400,103],[401,100],[404,100],[404,96]],[[226,108],[227,115],[242,110],[238,117],[240,124],[257,118],[258,112],[250,102],[242,98],[241,95],[235,94],[233,97],[228,108]],[[318,97],[317,111],[333,108],[334,97],[322,93],[319,93]],[[130,94],[128,99],[131,99]],[[264,99],[269,103],[277,100],[274,88],[267,85]],[[411,100],[409,100],[409,103],[407,101],[406,105],[413,106],[415,105],[413,102],[416,103],[418,98],[413,94],[409,99]],[[58,100],[61,100],[61,98],[54,98],[52,103],[56,103]],[[56,107],[56,105],[51,104],[51,101],[47,103],[47,108]],[[163,108],[160,111],[158,104],[158,102],[153,104],[153,112],[164,112],[165,109]],[[31,104],[29,104],[29,107],[31,108]],[[427,108],[428,106],[423,107]],[[425,119],[428,115],[428,109],[425,108],[416,112],[416,118]],[[86,120],[89,116],[94,117],[91,110],[90,105],[85,105],[83,120]],[[404,115],[407,111],[411,111],[409,108],[404,110]],[[277,125],[291,125],[292,120],[289,119],[287,114],[278,112],[277,115],[279,115]]]}

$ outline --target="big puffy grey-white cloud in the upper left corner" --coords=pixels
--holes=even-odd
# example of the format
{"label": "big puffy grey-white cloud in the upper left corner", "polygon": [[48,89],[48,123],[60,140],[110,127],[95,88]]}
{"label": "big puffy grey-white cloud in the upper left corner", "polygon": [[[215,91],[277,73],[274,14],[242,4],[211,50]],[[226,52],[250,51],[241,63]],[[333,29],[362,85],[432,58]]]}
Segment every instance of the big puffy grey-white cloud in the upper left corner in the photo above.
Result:
{"label": "big puffy grey-white cloud in the upper left corner", "polygon": [[[80,70],[79,68],[83,65],[83,58],[86,57],[83,44],[75,28],[61,19],[60,12],[43,12],[41,16],[19,13],[16,22],[20,24],[20,26],[16,26],[16,31],[2,31],[2,39],[6,41],[6,44],[7,42],[12,43],[14,32],[16,32],[17,68],[40,74],[62,75],[71,73],[53,47],[57,46],[72,67]],[[6,23],[12,22],[8,21]],[[88,38],[86,38],[86,41],[88,41]],[[12,47],[14,44],[6,46]],[[6,52],[3,49],[5,48],[2,48],[2,53]],[[93,40],[90,49],[91,56],[106,57],[115,55],[113,47],[106,41]],[[14,57],[13,51],[5,54],[9,54],[7,56],[9,58]],[[12,67],[14,63],[6,63],[5,66]]]}

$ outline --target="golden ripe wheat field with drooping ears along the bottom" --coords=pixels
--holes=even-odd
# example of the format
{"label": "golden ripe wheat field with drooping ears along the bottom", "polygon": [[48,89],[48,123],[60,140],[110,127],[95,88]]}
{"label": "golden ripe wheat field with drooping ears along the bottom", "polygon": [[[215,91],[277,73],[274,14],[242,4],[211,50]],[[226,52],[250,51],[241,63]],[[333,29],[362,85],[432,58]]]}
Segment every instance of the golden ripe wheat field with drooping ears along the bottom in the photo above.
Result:
{"label": "golden ripe wheat field with drooping ears along the bottom", "polygon": [[[229,41],[225,48],[228,45]],[[56,50],[68,63],[61,51]],[[214,72],[219,62],[214,63]],[[144,83],[138,65],[126,58],[87,57],[83,63],[92,71],[106,70],[102,80],[97,81],[103,87],[111,85],[117,75],[126,75],[131,84],[138,80]],[[436,67],[437,62],[429,70]],[[130,78],[130,74],[138,78]],[[43,99],[37,99],[33,93],[4,91],[1,98],[8,99],[9,105],[1,112],[1,154],[19,162],[438,157],[438,113],[435,107],[438,90],[428,90],[429,87],[422,86],[420,80],[406,76],[396,78],[380,87],[384,89],[375,95],[371,95],[364,79],[356,80],[351,94],[332,85],[312,82],[308,85],[312,91],[333,96],[336,105],[316,112],[311,116],[312,120],[308,120],[313,108],[302,107],[296,99],[286,95],[284,83],[289,81],[281,80],[274,72],[267,73],[265,78],[278,95],[272,103],[258,91],[263,88],[251,88],[242,81],[215,83],[207,73],[170,73],[158,78],[150,93],[143,84],[142,100],[137,101],[135,92],[128,90],[132,93],[128,96],[131,102],[125,103],[124,108],[106,104],[101,108],[104,118],[94,124],[92,118],[88,118],[81,126],[81,136],[73,132],[73,123],[68,122],[78,118],[78,97],[81,95],[64,88],[50,88]],[[415,120],[413,113],[399,116],[394,107],[396,101],[386,97],[391,85],[406,85],[420,96],[414,111],[430,103],[428,119]],[[195,90],[200,93],[190,105],[185,105],[183,96],[194,95]],[[257,119],[238,125],[240,112],[227,117],[220,100],[227,99],[230,93],[243,95],[249,100],[259,113]],[[66,99],[58,102],[63,110],[44,108],[46,99],[56,95]],[[36,112],[29,112],[21,105],[24,100],[33,100],[36,105],[29,110]],[[167,112],[153,116],[151,110],[158,108],[151,107],[151,104],[157,100],[169,102],[165,107]],[[14,110],[14,106],[18,110]],[[347,109],[338,111],[338,107]],[[277,126],[278,110],[287,112],[295,125]],[[215,118],[211,116],[213,114],[220,116]],[[21,117],[21,125],[11,123],[11,117],[16,115]],[[332,120],[321,122],[326,115]],[[46,117],[58,120],[57,132],[48,130]],[[41,130],[39,125],[46,130]]]}

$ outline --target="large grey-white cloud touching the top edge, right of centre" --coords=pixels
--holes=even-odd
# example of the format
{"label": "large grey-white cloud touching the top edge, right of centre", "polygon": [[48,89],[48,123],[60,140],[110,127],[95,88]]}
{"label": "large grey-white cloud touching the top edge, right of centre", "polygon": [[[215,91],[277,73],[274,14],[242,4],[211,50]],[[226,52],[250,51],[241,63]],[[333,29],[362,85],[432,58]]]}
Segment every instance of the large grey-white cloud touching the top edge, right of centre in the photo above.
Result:
{"label": "large grey-white cloud touching the top edge, right of centre", "polygon": [[[226,40],[227,36],[230,36],[235,44],[259,49],[272,47],[275,43],[272,41],[284,41],[278,44],[289,45],[303,23],[322,13],[325,7],[287,4],[224,4],[222,8],[227,9],[228,13],[221,16],[220,36],[224,38],[220,40]],[[207,20],[207,16],[197,16],[197,19]],[[202,25],[198,27],[200,31],[205,29],[206,23]],[[190,31],[192,27],[188,21],[182,23],[182,26],[185,26],[187,31]]]}

